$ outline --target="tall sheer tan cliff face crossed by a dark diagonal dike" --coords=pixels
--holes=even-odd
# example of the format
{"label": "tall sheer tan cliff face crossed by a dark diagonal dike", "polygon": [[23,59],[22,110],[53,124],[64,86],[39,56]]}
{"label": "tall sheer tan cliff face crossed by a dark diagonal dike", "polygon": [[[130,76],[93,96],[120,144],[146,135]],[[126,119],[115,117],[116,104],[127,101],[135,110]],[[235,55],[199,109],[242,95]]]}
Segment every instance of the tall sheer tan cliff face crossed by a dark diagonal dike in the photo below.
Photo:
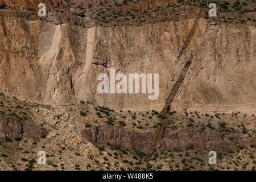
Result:
{"label": "tall sheer tan cliff face crossed by a dark diagonal dike", "polygon": [[[118,110],[161,110],[192,53],[172,109],[255,113],[256,28],[199,18],[191,32],[195,19],[83,28],[5,13],[0,92],[43,104],[90,100]],[[159,73],[158,99],[99,94],[97,76],[111,68],[126,76]]]}

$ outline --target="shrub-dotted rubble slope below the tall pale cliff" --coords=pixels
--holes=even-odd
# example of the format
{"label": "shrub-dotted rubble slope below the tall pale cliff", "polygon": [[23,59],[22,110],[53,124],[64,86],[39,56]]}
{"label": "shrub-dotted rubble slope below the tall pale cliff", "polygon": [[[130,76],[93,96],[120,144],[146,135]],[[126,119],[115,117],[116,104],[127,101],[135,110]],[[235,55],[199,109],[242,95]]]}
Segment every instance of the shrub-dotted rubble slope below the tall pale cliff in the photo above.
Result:
{"label": "shrub-dotted rubble slope below the tall pale cliff", "polygon": [[[114,111],[0,96],[1,170],[255,170],[255,115]],[[152,146],[167,119],[163,138]],[[7,123],[6,121],[9,121]],[[23,132],[20,132],[20,123]],[[28,125],[29,124],[29,125]],[[29,131],[32,131],[29,132]],[[152,148],[151,148],[152,147]],[[151,150],[153,153],[151,153]],[[208,164],[217,152],[218,165]],[[39,165],[38,152],[46,152]],[[150,154],[150,155],[148,155]]]}

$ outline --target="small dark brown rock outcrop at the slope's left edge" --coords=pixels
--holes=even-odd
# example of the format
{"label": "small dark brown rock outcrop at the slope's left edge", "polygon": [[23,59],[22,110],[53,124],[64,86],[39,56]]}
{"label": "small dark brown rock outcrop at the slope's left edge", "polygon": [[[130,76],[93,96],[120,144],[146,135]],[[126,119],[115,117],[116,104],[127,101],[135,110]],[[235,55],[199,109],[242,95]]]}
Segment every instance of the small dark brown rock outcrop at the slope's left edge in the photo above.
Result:
{"label": "small dark brown rock outcrop at the slope's left edge", "polygon": [[0,138],[42,137],[48,131],[34,123],[0,115]]}

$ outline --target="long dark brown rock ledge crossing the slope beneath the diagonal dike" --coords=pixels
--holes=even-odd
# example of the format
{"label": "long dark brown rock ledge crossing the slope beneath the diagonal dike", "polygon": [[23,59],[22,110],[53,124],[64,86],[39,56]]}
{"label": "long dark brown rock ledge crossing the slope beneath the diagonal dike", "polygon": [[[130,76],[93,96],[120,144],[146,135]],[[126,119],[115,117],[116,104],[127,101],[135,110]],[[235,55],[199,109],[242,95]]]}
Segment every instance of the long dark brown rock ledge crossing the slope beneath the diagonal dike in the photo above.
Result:
{"label": "long dark brown rock ledge crossing the slope beneath the diagonal dike", "polygon": [[[82,131],[82,138],[95,145],[102,146],[110,143],[114,146],[128,149],[129,151],[150,151],[150,143],[156,137],[153,133],[137,133],[121,127],[92,126]],[[233,135],[233,140],[224,139],[225,135],[218,130],[200,133],[196,129],[185,129],[164,133],[163,139],[155,143],[154,151],[167,151],[174,148],[192,147],[201,151],[216,151],[226,153],[236,150],[237,145],[249,147],[255,143],[255,138],[240,140],[239,135]]]}

